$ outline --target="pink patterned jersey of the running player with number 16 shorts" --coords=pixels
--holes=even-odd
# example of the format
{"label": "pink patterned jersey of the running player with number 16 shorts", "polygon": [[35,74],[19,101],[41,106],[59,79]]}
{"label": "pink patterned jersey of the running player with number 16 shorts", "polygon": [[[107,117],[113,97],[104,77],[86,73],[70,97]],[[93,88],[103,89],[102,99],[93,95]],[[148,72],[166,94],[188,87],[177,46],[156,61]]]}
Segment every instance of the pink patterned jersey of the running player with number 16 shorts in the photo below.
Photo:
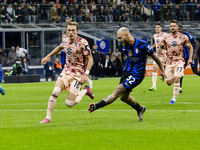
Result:
{"label": "pink patterned jersey of the running player with number 16 shorts", "polygon": [[[86,70],[85,55],[91,54],[88,42],[80,36],[77,36],[73,42],[67,37],[65,42],[61,43],[61,46],[64,47],[66,53],[66,64],[62,73],[71,75],[75,79],[77,77],[80,80]],[[83,51],[87,52],[83,53]]]}

